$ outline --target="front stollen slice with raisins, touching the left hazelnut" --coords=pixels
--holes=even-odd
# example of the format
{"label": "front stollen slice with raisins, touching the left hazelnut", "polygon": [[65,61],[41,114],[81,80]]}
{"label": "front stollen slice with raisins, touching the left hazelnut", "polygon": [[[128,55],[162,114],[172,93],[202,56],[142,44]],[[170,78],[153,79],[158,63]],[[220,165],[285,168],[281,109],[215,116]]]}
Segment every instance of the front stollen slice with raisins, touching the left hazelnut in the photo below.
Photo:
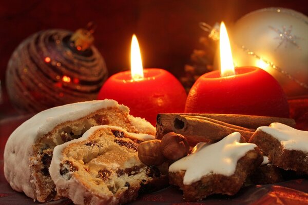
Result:
{"label": "front stollen slice with raisins, touching the left hazelnut", "polygon": [[[81,138],[56,146],[49,172],[59,194],[76,204],[122,204],[142,189],[167,183],[167,165],[146,166],[138,158],[140,142],[152,135],[120,127],[95,126]],[[162,171],[162,172],[161,172]]]}

